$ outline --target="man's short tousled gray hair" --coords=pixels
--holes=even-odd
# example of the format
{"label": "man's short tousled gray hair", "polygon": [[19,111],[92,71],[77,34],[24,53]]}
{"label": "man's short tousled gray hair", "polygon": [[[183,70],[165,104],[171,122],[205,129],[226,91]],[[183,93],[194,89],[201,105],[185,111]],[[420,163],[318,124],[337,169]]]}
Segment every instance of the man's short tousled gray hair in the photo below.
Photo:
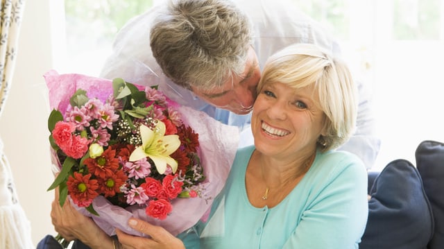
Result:
{"label": "man's short tousled gray hair", "polygon": [[226,0],[170,1],[151,29],[151,49],[166,76],[187,89],[221,87],[244,72],[253,28]]}

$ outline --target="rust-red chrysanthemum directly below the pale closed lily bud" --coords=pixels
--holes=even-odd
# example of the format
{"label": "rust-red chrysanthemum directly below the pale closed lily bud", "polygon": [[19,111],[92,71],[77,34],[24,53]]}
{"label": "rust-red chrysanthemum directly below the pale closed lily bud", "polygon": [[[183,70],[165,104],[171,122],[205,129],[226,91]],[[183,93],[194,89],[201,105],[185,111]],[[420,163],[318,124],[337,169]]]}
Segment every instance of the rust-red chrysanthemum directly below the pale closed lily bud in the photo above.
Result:
{"label": "rust-red chrysanthemum directly below the pale closed lily bud", "polygon": [[119,159],[116,157],[116,151],[112,148],[107,148],[99,157],[85,159],[84,163],[88,167],[89,173],[103,179],[119,169]]}

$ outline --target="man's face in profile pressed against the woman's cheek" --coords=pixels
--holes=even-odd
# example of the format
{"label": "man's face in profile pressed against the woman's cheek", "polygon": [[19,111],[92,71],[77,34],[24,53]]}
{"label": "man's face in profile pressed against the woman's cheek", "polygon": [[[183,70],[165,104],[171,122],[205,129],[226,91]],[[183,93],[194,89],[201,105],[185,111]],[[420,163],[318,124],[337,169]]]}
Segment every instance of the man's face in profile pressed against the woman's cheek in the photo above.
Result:
{"label": "man's face in profile pressed against the woman's cheek", "polygon": [[206,91],[192,87],[192,90],[199,98],[216,108],[229,110],[235,114],[248,114],[253,110],[257,95],[256,86],[260,77],[257,55],[250,47],[244,73],[241,76],[230,78],[222,87],[214,87]]}

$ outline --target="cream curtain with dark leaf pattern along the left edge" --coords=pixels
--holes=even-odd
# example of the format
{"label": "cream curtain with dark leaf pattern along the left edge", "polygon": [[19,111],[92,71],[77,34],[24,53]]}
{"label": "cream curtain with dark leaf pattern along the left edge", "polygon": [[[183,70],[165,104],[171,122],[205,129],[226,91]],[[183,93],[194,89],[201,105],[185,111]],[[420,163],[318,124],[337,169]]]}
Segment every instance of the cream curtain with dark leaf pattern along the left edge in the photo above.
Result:
{"label": "cream curtain with dark leaf pattern along the left edge", "polygon": [[[1,0],[0,6],[0,116],[12,84],[17,40],[25,0]],[[0,248],[35,248],[31,224],[19,204],[10,165],[0,139]]]}

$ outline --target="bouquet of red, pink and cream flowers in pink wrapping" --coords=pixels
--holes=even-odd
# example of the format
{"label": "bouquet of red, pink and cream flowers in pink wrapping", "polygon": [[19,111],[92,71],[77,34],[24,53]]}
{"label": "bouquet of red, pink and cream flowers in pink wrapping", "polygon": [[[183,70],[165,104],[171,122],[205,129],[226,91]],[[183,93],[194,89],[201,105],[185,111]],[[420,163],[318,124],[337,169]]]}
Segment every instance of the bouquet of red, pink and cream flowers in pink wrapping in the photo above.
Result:
{"label": "bouquet of red, pink and cream flowers in pink wrapping", "polygon": [[[60,205],[71,200],[109,235],[135,216],[183,232],[203,217],[228,176],[237,128],[171,101],[156,87],[45,74]],[[226,139],[226,135],[232,139]]]}

